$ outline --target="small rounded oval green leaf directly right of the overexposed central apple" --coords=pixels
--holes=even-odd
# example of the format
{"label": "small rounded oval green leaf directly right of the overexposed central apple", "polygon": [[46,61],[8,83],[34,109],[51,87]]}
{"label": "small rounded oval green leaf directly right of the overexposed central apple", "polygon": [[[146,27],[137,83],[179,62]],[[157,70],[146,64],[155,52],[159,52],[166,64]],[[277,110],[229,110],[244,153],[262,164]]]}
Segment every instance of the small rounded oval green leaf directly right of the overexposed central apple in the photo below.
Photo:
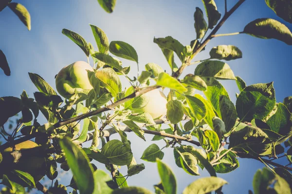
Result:
{"label": "small rounded oval green leaf directly right of the overexposed central apple", "polygon": [[183,119],[183,102],[180,100],[170,100],[166,104],[167,119],[172,124],[177,124]]}

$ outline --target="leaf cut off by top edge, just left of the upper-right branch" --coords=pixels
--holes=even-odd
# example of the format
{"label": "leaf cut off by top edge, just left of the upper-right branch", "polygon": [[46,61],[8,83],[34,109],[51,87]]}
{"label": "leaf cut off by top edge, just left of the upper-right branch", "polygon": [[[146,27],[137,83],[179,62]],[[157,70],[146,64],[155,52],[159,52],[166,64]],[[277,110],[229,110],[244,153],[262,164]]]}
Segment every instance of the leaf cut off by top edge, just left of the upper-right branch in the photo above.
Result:
{"label": "leaf cut off by top edge, just left of the upper-right branch", "polygon": [[213,29],[221,17],[217,11],[215,0],[202,0],[208,17],[208,28]]}

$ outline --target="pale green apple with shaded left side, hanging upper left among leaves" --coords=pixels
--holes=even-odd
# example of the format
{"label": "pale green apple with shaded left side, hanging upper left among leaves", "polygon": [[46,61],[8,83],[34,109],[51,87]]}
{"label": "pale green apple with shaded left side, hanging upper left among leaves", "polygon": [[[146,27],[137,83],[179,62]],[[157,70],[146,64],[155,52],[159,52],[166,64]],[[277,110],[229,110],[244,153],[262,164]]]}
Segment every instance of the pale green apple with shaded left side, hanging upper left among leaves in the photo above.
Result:
{"label": "pale green apple with shaded left side, hanging upper left among leaves", "polygon": [[77,61],[62,68],[55,79],[58,93],[69,99],[74,94],[74,88],[91,90],[87,70],[93,71],[91,65],[84,61]]}

